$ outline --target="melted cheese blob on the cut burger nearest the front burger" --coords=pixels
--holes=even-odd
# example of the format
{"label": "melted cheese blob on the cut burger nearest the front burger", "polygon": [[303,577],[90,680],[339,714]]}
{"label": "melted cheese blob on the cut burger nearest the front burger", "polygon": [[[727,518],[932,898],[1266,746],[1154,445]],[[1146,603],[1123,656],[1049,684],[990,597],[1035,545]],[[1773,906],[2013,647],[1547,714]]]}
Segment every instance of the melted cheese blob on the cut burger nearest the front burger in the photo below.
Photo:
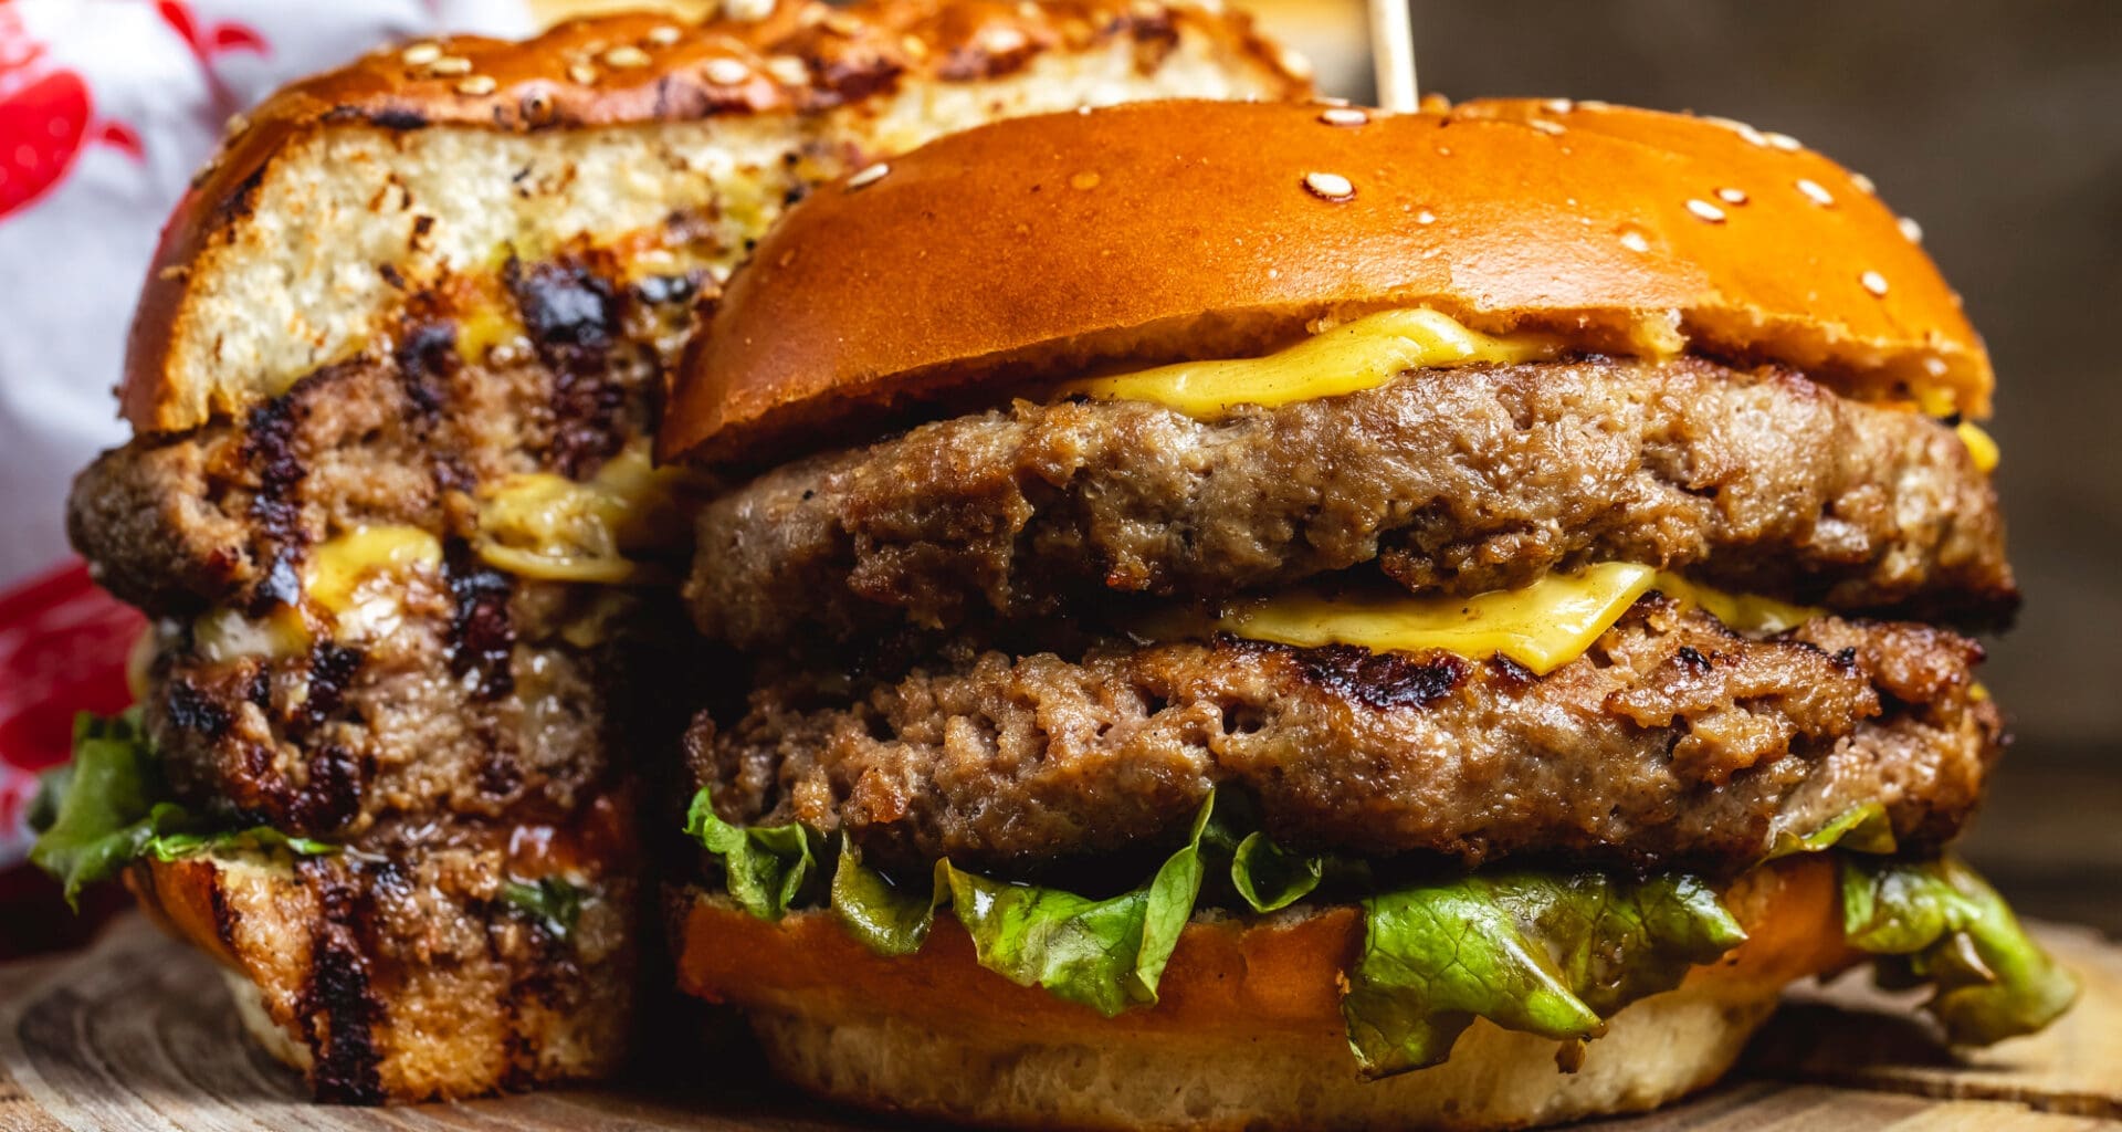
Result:
{"label": "melted cheese blob on the cut burger nearest the front burger", "polygon": [[649,465],[645,444],[628,446],[581,482],[550,471],[505,476],[480,491],[475,550],[486,565],[520,578],[637,582],[641,563],[630,552],[688,533],[677,512],[681,486],[681,471]]}

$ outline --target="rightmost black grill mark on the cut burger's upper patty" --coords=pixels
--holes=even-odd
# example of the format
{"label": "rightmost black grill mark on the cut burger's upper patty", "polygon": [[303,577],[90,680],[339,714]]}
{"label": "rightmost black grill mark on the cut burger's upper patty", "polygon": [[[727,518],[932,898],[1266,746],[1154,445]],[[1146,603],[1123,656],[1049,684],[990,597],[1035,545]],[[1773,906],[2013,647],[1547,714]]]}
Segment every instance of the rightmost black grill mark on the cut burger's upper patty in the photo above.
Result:
{"label": "rightmost black grill mark on the cut burger's upper patty", "polygon": [[579,480],[618,452],[618,418],[626,391],[611,382],[609,361],[620,327],[611,282],[575,259],[503,268],[509,295],[539,359],[552,370],[552,465]]}

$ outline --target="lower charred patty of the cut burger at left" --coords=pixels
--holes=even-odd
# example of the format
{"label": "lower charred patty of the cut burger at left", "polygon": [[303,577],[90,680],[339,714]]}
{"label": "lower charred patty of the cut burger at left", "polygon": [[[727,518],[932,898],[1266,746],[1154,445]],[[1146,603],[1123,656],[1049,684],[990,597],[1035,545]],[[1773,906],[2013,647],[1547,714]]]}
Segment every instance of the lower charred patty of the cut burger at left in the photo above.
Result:
{"label": "lower charred patty of the cut burger at left", "polygon": [[[569,813],[671,741],[666,646],[632,595],[516,582],[475,563],[393,578],[388,631],[286,654],[163,641],[142,697],[168,784],[195,811],[359,839],[390,816]],[[571,644],[569,637],[594,644]]]}

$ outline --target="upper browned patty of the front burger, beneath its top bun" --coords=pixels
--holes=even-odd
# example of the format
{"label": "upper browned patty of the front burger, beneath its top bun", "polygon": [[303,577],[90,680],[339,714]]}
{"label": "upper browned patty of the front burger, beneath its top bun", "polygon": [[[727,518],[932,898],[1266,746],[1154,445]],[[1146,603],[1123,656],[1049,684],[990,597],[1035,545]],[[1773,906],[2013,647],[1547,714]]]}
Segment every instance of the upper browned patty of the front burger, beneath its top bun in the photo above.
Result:
{"label": "upper browned patty of the front burger, beneath its top bun", "polygon": [[694,618],[753,650],[1373,559],[1411,590],[1632,561],[1848,612],[2016,603],[1950,429],[1702,359],[1422,370],[1218,423],[1016,401],[770,471],[698,544]]}

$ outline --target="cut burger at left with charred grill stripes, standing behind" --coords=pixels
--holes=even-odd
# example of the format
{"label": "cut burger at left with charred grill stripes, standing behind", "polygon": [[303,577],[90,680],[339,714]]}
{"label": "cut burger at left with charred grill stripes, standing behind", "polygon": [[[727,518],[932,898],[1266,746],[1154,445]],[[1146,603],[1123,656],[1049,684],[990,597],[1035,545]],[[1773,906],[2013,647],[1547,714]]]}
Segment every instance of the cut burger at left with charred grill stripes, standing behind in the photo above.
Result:
{"label": "cut burger at left with charred grill stripes, standing behind", "polygon": [[[741,19],[738,8],[760,19]],[[123,877],[337,1102],[620,1068],[705,484],[692,306],[813,185],[999,117],[1307,93],[1241,15],[961,0],[393,45],[231,123],[70,531],[144,610],[36,860]]]}

